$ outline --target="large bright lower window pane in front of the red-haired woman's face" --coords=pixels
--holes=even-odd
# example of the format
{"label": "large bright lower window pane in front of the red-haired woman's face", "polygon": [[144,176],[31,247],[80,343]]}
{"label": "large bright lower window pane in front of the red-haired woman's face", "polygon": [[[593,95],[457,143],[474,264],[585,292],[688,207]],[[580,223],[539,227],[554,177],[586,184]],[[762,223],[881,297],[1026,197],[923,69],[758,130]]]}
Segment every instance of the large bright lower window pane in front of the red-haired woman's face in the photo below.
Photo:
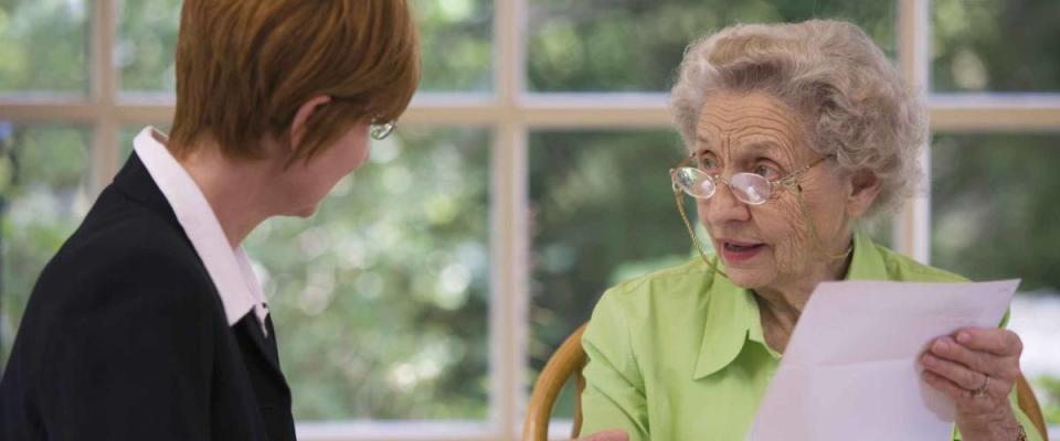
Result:
{"label": "large bright lower window pane in front of the red-haired woman's face", "polygon": [[299,420],[485,419],[489,135],[400,127],[248,239]]}

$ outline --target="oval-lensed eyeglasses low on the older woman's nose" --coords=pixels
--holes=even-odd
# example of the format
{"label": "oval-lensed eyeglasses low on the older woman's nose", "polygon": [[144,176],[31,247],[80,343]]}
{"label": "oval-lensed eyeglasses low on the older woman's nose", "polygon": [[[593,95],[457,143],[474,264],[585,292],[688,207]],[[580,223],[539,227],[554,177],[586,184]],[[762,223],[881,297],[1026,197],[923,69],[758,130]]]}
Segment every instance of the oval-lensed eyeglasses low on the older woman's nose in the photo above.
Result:
{"label": "oval-lensed eyeglasses low on the older woman's nose", "polygon": [[827,155],[818,158],[808,165],[788,174],[776,181],[770,181],[765,176],[755,173],[736,173],[732,178],[725,179],[720,174],[708,174],[699,168],[688,166],[696,159],[696,153],[690,154],[675,169],[670,169],[670,181],[674,183],[674,192],[683,191],[689,196],[707,200],[718,192],[718,182],[721,181],[729,186],[732,195],[740,202],[748,205],[762,205],[770,198],[780,194],[780,190],[789,189],[802,191],[798,185],[798,176],[803,175],[809,169],[831,158]]}

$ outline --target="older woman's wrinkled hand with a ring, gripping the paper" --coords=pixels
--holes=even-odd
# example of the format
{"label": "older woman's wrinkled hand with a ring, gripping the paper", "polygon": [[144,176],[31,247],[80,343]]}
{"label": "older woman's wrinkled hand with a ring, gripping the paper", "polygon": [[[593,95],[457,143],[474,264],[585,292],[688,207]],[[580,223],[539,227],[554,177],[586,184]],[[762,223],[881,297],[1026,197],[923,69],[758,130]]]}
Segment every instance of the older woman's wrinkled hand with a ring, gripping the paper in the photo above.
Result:
{"label": "older woman's wrinkled hand with a ring, gripping the paper", "polygon": [[1017,439],[1019,423],[1008,396],[1022,351],[1011,331],[969,327],[935,340],[921,357],[924,380],[956,404],[964,440]]}

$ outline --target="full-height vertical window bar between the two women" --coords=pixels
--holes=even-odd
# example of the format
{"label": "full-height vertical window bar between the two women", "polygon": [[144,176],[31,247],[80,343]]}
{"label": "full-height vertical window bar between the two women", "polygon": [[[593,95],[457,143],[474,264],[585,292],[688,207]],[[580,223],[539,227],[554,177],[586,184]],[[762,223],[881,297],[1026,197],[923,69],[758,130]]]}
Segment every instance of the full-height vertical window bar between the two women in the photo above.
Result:
{"label": "full-height vertical window bar between the two women", "polygon": [[490,301],[491,420],[501,440],[519,435],[526,387],[529,303],[527,280],[527,128],[519,97],[524,83],[526,1],[494,3],[494,126],[490,214],[492,298]]}

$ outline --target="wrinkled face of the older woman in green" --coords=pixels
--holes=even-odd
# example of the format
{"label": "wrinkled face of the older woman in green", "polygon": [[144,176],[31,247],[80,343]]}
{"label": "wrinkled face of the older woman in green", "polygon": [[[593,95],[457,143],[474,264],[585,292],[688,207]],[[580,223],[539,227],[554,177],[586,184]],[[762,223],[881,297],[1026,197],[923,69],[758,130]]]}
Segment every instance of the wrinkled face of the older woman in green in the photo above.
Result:
{"label": "wrinkled face of the older woman in green", "polygon": [[[700,169],[727,179],[750,172],[776,181],[820,158],[810,149],[798,115],[761,93],[709,97],[696,132]],[[721,182],[712,197],[697,200],[699,219],[729,278],[750,289],[797,283],[828,265],[823,249],[842,252],[849,222],[846,185],[838,174],[834,161],[803,173],[802,201],[797,192],[776,187],[764,204],[746,205]],[[813,239],[810,220],[820,245]]]}

